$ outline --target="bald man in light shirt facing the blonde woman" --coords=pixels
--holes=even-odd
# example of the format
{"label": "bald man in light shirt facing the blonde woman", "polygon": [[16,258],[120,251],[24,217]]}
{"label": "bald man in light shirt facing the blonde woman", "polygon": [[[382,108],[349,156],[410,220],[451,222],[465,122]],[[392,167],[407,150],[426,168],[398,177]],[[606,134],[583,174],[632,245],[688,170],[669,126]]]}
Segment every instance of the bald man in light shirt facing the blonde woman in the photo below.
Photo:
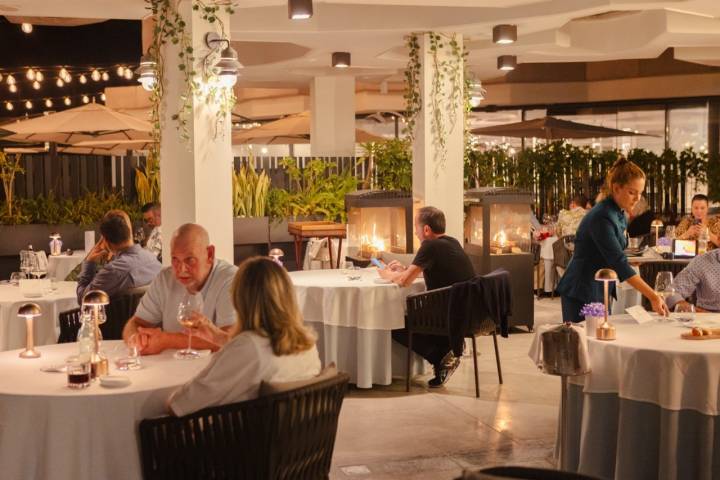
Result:
{"label": "bald man in light shirt facing the blonde woman", "polygon": [[[187,294],[202,294],[202,316],[207,321],[225,329],[235,323],[230,287],[237,267],[215,258],[207,230],[194,223],[182,225],[173,233],[170,254],[172,266],[155,278],[123,331],[126,342],[138,335],[143,355],[187,347],[187,335],[177,321],[178,305]],[[218,349],[197,337],[192,338],[192,346]]]}

